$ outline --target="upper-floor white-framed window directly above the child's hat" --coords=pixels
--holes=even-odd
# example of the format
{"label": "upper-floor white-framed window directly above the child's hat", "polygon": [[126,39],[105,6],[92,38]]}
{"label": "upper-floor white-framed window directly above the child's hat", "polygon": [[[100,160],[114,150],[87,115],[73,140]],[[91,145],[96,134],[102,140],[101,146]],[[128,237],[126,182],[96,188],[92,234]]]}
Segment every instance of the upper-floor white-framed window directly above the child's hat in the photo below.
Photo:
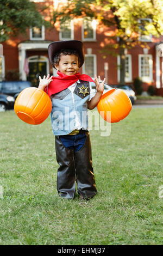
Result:
{"label": "upper-floor white-framed window directly above the child's hat", "polygon": [[60,40],[73,40],[73,20],[66,20],[60,23]]}

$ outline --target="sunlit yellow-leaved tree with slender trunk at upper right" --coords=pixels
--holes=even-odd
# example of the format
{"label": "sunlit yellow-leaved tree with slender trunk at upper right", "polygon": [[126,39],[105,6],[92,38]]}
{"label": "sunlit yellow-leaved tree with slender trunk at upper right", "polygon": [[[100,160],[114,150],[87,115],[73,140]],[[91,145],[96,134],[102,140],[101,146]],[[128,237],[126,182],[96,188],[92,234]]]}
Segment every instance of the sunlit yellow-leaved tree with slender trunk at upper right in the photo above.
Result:
{"label": "sunlit yellow-leaved tree with slender trunk at upper right", "polygon": [[110,43],[101,52],[110,53],[111,48],[119,50],[120,84],[124,84],[125,77],[125,48],[136,44],[148,47],[139,41],[141,34],[163,34],[162,0],[71,0],[60,11],[55,10],[53,17],[55,23],[60,17],[64,22],[67,18],[84,16],[97,19],[108,27],[114,26],[115,35],[110,36]]}

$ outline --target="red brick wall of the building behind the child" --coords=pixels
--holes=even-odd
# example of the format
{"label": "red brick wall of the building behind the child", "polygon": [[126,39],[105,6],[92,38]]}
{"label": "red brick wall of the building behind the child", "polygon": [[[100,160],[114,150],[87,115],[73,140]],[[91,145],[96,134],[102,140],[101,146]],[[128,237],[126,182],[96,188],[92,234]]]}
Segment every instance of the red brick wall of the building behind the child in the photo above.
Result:
{"label": "red brick wall of the building behind the child", "polygon": [[[53,8],[53,1],[48,0],[47,3],[52,6]],[[40,3],[42,5],[47,4]],[[52,9],[51,9],[52,10]],[[51,11],[50,10],[50,11]],[[49,10],[47,10],[47,17],[49,15]],[[45,17],[47,19],[47,17]],[[96,42],[84,42],[84,49],[85,53],[87,53],[87,48],[92,48],[92,54],[96,54],[97,56],[97,75],[100,75],[101,78],[104,78],[104,62],[109,63],[109,70],[108,70],[108,83],[109,84],[117,84],[117,57],[101,54],[99,50],[108,44],[109,36],[114,34],[113,28],[107,28],[103,26],[101,23],[97,24],[97,31],[96,31]],[[82,40],[82,20],[74,20],[74,39],[75,40]],[[53,29],[45,30],[45,40],[46,41],[59,41],[59,27],[58,24],[55,25]],[[148,43],[149,54],[153,56],[153,82],[152,83],[143,83],[143,89],[147,90],[149,85],[155,86],[155,44],[163,41],[163,36],[160,36],[159,39],[153,39],[154,42]],[[4,56],[5,56],[5,71],[11,69],[18,69],[18,48],[17,45],[20,42],[29,41],[29,29],[27,30],[27,36],[19,35],[17,38],[11,38],[4,45]],[[32,41],[31,41],[32,42]],[[117,50],[118,52],[118,50]],[[28,51],[28,57],[32,55],[45,55],[48,57],[47,51]],[[134,48],[128,50],[128,54],[132,56],[132,77],[133,81],[135,77],[139,76],[139,54],[143,54],[143,48],[140,45],[135,46]],[[105,58],[103,58],[103,56]],[[161,63],[161,58],[160,58]],[[50,72],[52,72],[52,67],[50,66]],[[161,66],[161,64],[160,64]],[[80,69],[82,72],[82,69]],[[133,83],[133,81],[131,83]],[[163,86],[163,85],[162,85]]]}

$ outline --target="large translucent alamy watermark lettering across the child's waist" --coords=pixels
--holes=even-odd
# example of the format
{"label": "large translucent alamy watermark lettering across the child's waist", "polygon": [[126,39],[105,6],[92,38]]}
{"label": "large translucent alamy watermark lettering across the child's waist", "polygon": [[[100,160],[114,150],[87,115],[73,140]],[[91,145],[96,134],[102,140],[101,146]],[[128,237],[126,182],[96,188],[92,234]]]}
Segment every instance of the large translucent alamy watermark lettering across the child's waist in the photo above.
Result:
{"label": "large translucent alamy watermark lettering across the child's waist", "polygon": [[[102,118],[103,117],[103,118]],[[107,121],[104,120],[104,117]],[[110,136],[111,133],[111,112],[101,111],[70,111],[69,107],[65,107],[64,111],[54,111],[52,114],[52,128],[53,131],[73,131],[78,126],[92,131],[101,131],[100,136]]]}

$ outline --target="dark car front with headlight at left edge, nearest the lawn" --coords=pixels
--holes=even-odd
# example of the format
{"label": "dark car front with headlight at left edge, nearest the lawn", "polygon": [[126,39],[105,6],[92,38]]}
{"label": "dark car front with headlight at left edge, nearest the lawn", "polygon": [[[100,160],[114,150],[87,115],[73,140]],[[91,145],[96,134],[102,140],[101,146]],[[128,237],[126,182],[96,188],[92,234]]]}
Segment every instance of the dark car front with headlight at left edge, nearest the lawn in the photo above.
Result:
{"label": "dark car front with headlight at left edge, nearest the lawn", "polygon": [[7,109],[12,109],[14,107],[14,103],[14,97],[6,94],[0,94],[0,112],[3,112]]}

